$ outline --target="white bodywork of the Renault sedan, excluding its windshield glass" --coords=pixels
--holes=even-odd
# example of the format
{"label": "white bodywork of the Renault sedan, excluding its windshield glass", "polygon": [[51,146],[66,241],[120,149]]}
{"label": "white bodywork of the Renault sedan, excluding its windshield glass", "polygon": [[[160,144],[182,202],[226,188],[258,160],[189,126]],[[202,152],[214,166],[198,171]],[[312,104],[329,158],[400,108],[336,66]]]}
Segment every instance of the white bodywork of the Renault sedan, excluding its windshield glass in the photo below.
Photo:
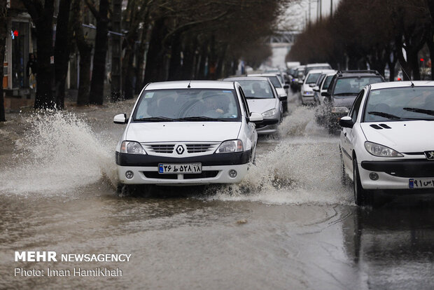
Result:
{"label": "white bodywork of the Renault sedan, excluding its windshield glass", "polygon": [[[236,118],[230,117],[235,118],[234,120],[225,118],[218,121],[207,120],[204,117],[202,117],[204,120],[181,120],[181,118],[168,121],[148,120],[158,118],[158,116],[133,119],[139,116],[141,102],[150,103],[151,98],[155,98],[155,103],[160,102],[158,98],[164,99],[165,97],[158,96],[164,95],[166,92],[171,95],[175,90],[186,93],[187,97],[185,97],[186,101],[183,101],[184,104],[197,102],[194,90],[224,92],[233,98],[231,102],[237,102],[238,115]],[[193,92],[193,97],[188,95],[189,92]],[[202,105],[203,99],[200,99],[200,103]],[[186,108],[184,104],[179,112]],[[149,109],[150,106],[148,106],[147,112],[152,111]],[[171,105],[169,104],[169,106]],[[113,121],[120,124],[127,123],[116,146],[116,164],[120,184],[231,184],[243,179],[249,165],[255,158],[258,134],[253,122],[262,121],[262,116],[258,113],[249,113],[246,99],[242,95],[238,83],[170,81],[146,85],[134,104],[130,120],[126,119],[125,114],[120,114],[115,116]],[[228,140],[235,140],[233,144],[236,144],[237,149],[235,150],[237,151],[217,153],[221,144]],[[241,146],[237,140],[241,141]],[[228,142],[232,144],[232,141]],[[130,143],[140,153],[128,151],[130,150],[128,149]],[[143,151],[137,143],[140,144]],[[190,167],[185,168],[191,170],[194,164],[200,164],[202,172],[181,173],[183,171],[181,165],[190,165]],[[165,172],[169,168],[166,165],[174,165],[172,171]],[[176,169],[178,170],[174,172],[173,170]],[[232,175],[230,175],[231,170],[235,170],[237,174],[233,174],[232,171]]]}

